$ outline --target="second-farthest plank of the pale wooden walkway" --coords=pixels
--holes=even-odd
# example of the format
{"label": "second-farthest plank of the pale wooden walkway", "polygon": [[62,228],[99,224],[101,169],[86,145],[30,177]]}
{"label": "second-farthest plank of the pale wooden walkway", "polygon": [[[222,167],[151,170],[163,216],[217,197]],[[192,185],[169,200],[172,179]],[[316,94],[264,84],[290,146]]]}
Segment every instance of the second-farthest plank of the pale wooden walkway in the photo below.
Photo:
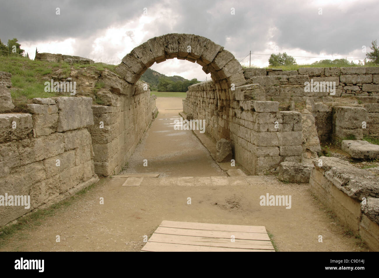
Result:
{"label": "second-farthest plank of the pale wooden walkway", "polygon": [[227,232],[227,231],[211,231],[198,229],[181,229],[158,227],[154,233],[158,234],[175,234],[179,236],[196,236],[196,237],[220,237],[230,239],[233,235],[235,239],[250,239],[250,240],[270,240],[268,234],[263,232]]}

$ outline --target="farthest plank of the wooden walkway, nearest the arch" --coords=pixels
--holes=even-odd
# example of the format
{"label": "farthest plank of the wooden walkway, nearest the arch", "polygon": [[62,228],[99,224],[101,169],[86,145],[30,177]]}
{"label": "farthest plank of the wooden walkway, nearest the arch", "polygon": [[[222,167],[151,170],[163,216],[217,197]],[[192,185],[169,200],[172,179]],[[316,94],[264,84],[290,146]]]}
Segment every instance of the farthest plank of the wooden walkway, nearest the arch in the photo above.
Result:
{"label": "farthest plank of the wooden walkway, nearest the arch", "polygon": [[163,220],[159,226],[168,227],[168,228],[199,229],[199,230],[211,230],[211,231],[267,233],[265,226],[224,225],[224,224],[194,223],[194,222],[167,221],[167,220]]}

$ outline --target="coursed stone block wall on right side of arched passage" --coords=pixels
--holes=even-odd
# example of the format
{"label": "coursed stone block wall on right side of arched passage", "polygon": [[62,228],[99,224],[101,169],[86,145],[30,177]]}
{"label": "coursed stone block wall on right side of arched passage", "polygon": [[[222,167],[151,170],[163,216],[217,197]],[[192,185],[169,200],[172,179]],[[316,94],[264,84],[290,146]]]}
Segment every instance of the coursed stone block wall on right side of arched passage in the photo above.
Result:
{"label": "coursed stone block wall on right side of arched passage", "polygon": [[[301,113],[279,111],[279,102],[248,101],[262,86],[217,91],[213,81],[189,86],[183,111],[205,119],[205,131],[216,141],[232,141],[238,163],[252,174],[263,173],[283,161],[301,161]],[[276,126],[277,123],[277,126]]]}

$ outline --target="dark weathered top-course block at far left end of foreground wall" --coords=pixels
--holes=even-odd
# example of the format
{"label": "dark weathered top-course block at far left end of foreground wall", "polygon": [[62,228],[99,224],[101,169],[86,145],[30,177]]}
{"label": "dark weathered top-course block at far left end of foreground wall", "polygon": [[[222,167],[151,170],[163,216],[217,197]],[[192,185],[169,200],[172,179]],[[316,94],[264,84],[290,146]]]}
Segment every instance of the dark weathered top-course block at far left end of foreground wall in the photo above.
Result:
{"label": "dark weathered top-course block at far left end of foreground wall", "polygon": [[0,142],[25,138],[32,129],[33,121],[30,114],[0,114]]}

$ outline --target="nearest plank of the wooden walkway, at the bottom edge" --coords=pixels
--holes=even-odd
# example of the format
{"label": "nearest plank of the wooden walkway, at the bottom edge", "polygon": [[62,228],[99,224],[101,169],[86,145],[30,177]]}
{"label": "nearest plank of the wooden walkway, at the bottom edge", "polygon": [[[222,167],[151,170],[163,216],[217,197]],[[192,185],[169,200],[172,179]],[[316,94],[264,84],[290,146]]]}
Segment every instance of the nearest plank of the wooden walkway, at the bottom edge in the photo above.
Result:
{"label": "nearest plank of the wooden walkway, at the bottom edge", "polygon": [[275,252],[275,250],[210,247],[148,241],[141,252]]}

